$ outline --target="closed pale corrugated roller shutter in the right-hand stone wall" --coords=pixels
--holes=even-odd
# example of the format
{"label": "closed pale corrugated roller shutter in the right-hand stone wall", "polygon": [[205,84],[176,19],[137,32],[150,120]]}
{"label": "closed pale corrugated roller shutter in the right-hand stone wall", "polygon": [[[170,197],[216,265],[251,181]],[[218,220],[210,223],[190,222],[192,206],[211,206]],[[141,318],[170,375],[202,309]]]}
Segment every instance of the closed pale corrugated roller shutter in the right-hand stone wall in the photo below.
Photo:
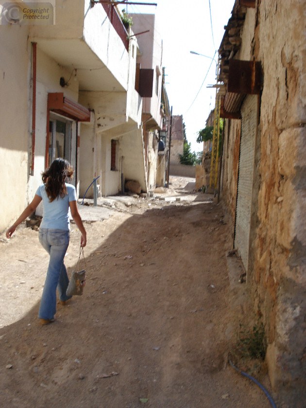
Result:
{"label": "closed pale corrugated roller shutter in the right-hand stone wall", "polygon": [[241,107],[241,139],[238,170],[238,196],[236,207],[235,248],[248,269],[252,189],[255,159],[257,121],[256,95],[248,95]]}

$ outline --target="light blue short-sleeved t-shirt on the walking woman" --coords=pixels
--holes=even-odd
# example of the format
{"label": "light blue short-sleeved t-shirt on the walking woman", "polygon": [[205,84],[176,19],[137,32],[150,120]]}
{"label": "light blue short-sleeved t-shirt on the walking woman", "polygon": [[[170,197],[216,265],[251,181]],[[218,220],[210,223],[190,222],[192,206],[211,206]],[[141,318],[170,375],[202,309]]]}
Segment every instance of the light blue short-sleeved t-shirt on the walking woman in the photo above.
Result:
{"label": "light blue short-sleeved t-shirt on the walking woman", "polygon": [[45,185],[41,184],[36,191],[36,194],[42,198],[44,213],[40,228],[55,228],[65,231],[70,230],[69,222],[69,202],[76,201],[76,191],[72,184],[65,183],[67,194],[64,198],[58,197],[51,203],[46,193]]}

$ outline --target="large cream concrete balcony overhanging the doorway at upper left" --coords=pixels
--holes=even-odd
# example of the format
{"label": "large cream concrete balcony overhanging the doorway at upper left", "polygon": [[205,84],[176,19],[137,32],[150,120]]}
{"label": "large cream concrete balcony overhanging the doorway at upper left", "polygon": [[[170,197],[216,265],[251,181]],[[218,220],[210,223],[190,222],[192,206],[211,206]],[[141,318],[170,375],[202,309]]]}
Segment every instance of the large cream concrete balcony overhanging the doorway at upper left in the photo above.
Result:
{"label": "large cream concrete balcony overhanging the doorway at upper left", "polygon": [[112,4],[91,5],[56,0],[56,25],[31,26],[30,41],[58,64],[77,69],[79,90],[126,92],[128,33]]}

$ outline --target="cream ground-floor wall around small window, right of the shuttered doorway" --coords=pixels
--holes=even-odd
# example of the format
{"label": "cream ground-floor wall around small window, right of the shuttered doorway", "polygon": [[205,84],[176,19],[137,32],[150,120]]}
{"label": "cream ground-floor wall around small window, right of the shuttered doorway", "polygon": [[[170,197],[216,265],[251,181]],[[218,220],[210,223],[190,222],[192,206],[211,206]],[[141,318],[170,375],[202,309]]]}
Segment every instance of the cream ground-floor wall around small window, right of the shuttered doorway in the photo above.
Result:
{"label": "cream ground-floor wall around small window, right of the shuttered doorway", "polygon": [[[101,194],[112,195],[120,191],[121,175],[120,171],[110,170],[111,139],[119,139],[119,146],[124,155],[124,169],[133,173],[135,177],[139,175],[139,170],[143,168],[143,148],[141,131],[138,129],[140,113],[137,121],[128,119],[126,116],[127,102],[125,92],[80,92],[79,103],[94,109],[95,126],[91,131],[83,129],[88,125],[81,125],[81,149],[80,149],[80,194],[91,183],[94,174],[100,175]],[[128,120],[127,120],[128,119]],[[86,127],[86,129],[87,129]],[[135,132],[135,133],[134,133]],[[134,138],[139,140],[133,140]],[[95,134],[97,136],[95,136]],[[87,140],[87,141],[86,141]],[[131,147],[135,145],[135,149]],[[94,154],[92,149],[94,148]],[[132,154],[132,157],[128,157]],[[88,165],[90,163],[90,165]],[[90,170],[89,170],[90,167]],[[133,167],[133,170],[130,168]],[[136,171],[134,172],[134,169]],[[142,176],[143,177],[143,176]],[[145,187],[145,183],[143,183]],[[85,188],[86,187],[86,188]],[[91,190],[90,190],[91,191]],[[88,191],[88,194],[90,194]]]}

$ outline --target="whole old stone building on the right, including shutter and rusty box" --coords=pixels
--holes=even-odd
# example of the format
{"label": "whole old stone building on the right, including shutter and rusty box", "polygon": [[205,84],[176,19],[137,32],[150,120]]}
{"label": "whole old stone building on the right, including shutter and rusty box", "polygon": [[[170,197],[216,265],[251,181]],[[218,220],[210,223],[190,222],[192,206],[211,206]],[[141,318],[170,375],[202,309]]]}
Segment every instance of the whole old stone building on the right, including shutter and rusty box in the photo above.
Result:
{"label": "whole old stone building on the right, including shutter and rusty box", "polygon": [[[288,9],[289,7],[289,9]],[[235,1],[220,49],[227,88],[223,203],[274,390],[305,406],[306,1]]]}

